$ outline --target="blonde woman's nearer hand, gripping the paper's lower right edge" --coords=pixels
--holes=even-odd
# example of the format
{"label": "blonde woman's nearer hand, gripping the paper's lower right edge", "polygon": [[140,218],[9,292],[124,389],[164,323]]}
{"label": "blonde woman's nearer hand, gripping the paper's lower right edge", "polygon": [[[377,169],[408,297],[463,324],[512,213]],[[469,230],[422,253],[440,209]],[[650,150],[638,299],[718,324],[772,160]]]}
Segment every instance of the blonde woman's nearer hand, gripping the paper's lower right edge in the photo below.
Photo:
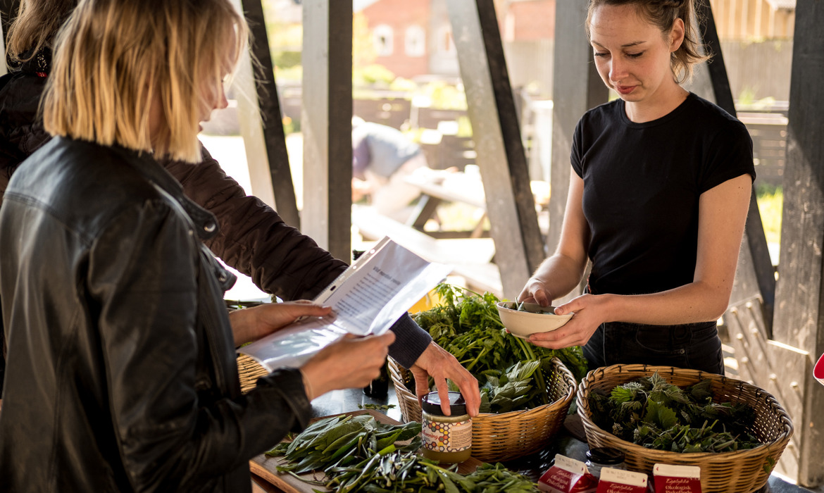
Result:
{"label": "blonde woman's nearer hand, gripping the paper's lower right edge", "polygon": [[323,348],[301,367],[309,400],[332,390],[366,387],[380,376],[394,340],[392,331],[382,336],[348,334]]}

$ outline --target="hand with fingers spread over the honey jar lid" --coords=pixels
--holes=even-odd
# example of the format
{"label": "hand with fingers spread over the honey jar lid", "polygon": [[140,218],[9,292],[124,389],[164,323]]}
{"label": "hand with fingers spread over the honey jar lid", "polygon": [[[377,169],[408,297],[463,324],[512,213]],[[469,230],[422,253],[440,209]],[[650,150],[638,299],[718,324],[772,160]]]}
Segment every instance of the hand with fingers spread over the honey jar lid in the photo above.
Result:
{"label": "hand with fingers spread over the honey jar lid", "polygon": [[441,397],[441,411],[450,416],[449,399],[447,392],[447,378],[456,383],[461,389],[461,395],[466,401],[466,412],[469,416],[476,416],[480,408],[480,390],[478,380],[461,366],[458,360],[441,346],[430,342],[424,353],[414,362],[410,372],[414,375],[414,389],[418,402],[429,393],[429,377],[435,381],[438,395]]}

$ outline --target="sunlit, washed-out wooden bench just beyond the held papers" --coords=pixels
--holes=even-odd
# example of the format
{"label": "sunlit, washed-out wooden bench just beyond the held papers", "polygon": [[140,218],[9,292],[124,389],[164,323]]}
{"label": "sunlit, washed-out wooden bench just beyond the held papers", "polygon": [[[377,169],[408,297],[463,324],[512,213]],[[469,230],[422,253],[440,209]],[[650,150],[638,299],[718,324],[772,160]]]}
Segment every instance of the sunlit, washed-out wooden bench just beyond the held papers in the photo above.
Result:
{"label": "sunlit, washed-out wooden bench just beyond the held papers", "polygon": [[352,206],[352,223],[365,240],[391,237],[428,261],[452,265],[452,273],[466,279],[467,288],[503,296],[498,265],[490,263],[495,253],[492,238],[433,238],[363,205]]}

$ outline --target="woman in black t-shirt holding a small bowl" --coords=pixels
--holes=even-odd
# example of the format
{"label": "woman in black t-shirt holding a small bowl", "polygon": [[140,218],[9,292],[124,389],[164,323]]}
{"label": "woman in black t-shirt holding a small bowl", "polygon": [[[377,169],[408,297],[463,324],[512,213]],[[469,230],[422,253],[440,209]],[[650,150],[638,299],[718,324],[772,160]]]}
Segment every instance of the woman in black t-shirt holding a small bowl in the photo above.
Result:
{"label": "woman in black t-shirt holding a small bowl", "polygon": [[518,297],[574,312],[550,348],[584,345],[590,367],[661,364],[723,373],[726,310],[747,218],[752,143],[744,125],[681,87],[705,59],[693,0],[591,0],[598,73],[620,96],[575,129],[558,249]]}

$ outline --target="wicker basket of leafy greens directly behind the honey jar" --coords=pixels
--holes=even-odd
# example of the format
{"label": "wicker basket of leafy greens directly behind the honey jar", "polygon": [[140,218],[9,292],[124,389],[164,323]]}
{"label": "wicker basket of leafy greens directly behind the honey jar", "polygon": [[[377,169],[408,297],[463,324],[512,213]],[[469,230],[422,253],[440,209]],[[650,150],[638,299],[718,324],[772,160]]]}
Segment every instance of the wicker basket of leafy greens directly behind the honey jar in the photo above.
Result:
{"label": "wicker basket of leafy greens directly behind the honey jar", "polygon": [[[418,397],[404,383],[409,371],[389,359],[400,413],[406,421],[420,421]],[[552,359],[552,373],[545,375],[550,404],[528,411],[480,414],[472,419],[472,457],[481,461],[508,461],[538,452],[558,432],[575,396],[575,378],[559,359]]]}

